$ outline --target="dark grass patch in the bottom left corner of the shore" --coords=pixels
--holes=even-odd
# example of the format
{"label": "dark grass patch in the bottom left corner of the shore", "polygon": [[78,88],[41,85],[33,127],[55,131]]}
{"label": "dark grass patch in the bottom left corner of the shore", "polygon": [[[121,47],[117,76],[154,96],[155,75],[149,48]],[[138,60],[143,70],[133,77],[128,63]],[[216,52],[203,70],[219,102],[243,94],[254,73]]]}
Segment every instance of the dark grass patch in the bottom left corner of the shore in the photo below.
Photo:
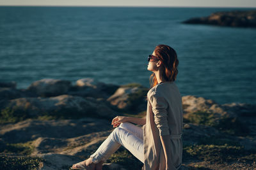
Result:
{"label": "dark grass patch in the bottom left corner of the shore", "polygon": [[40,162],[44,159],[38,157],[7,157],[0,156],[0,169],[1,170],[30,170],[38,169]]}

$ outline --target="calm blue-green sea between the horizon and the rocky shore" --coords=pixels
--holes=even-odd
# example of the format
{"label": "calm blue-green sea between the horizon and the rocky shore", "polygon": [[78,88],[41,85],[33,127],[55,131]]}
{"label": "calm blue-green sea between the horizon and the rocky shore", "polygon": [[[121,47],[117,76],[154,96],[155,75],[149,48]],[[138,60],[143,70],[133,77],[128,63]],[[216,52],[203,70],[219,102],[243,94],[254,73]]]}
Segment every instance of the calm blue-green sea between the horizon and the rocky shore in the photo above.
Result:
{"label": "calm blue-green sea between the horizon and the rocky shore", "polygon": [[[182,96],[256,104],[256,29],[186,25],[236,8],[0,7],[0,81],[95,78],[149,87],[147,56],[159,44],[180,61]],[[240,9],[248,10],[248,9]]]}

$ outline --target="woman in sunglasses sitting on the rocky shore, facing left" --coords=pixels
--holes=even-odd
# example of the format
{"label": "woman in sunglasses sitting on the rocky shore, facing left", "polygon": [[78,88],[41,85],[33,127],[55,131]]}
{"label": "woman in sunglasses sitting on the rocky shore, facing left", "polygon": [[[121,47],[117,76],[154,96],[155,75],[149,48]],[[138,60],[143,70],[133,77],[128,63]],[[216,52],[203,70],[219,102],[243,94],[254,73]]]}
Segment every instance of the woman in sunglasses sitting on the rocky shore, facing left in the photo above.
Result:
{"label": "woman in sunglasses sitting on the rocky shore, facing left", "polygon": [[183,117],[180,92],[174,83],[178,64],[177,53],[172,47],[156,46],[148,56],[147,69],[153,73],[151,89],[147,93],[146,117],[113,118],[114,131],[89,159],[74,164],[71,169],[102,169],[104,160],[121,145],[143,162],[144,170],[179,169]]}

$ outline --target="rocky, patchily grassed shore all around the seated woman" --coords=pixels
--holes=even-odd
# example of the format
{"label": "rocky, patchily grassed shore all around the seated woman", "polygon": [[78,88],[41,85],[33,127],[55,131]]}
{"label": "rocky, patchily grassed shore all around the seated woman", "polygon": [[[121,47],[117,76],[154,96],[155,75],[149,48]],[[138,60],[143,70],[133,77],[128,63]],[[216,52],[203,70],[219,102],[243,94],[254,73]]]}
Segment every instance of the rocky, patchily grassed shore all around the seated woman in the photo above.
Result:
{"label": "rocky, patchily grassed shore all around the seated woman", "polygon": [[[143,117],[148,89],[90,78],[0,82],[0,169],[68,169],[113,131],[116,115]],[[181,169],[256,169],[256,106],[182,96]],[[103,169],[141,169],[122,146]]]}

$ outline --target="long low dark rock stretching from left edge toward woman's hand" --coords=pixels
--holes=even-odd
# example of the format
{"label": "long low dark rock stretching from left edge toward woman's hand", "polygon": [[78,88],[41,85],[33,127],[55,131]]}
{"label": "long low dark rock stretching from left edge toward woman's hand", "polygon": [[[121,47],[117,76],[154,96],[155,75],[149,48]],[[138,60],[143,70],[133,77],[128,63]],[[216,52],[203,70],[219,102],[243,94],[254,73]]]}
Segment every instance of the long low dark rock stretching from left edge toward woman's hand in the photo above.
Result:
{"label": "long low dark rock stretching from left edge toward woman's hand", "polygon": [[[14,115],[22,114],[25,117],[50,115],[54,117],[102,117],[116,116],[106,103],[92,97],[61,95],[56,97],[22,97],[12,99],[1,106],[1,109],[10,108]],[[20,115],[20,116],[22,116]]]}

